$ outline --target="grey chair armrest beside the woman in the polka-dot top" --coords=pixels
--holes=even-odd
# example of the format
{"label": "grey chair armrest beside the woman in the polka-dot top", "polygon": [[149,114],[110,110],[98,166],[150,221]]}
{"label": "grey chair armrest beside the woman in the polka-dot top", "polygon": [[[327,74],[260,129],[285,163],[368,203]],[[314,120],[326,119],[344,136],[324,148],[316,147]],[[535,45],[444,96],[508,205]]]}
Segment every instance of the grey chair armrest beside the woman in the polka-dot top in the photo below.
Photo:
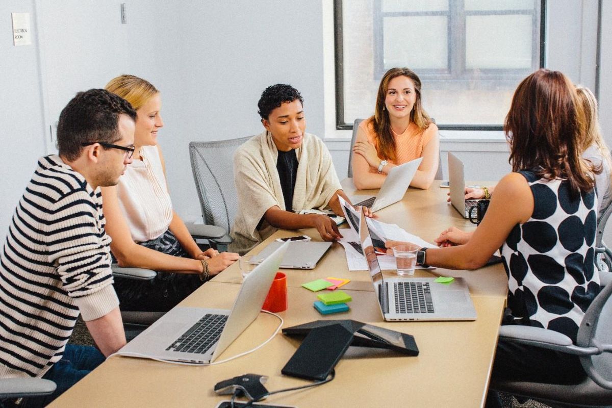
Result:
{"label": "grey chair armrest beside the woman in the polka-dot top", "polygon": [[562,333],[541,327],[502,325],[499,328],[499,339],[526,344],[528,346],[542,347],[554,351],[561,351],[574,355],[599,354],[597,347],[578,347],[572,339]]}

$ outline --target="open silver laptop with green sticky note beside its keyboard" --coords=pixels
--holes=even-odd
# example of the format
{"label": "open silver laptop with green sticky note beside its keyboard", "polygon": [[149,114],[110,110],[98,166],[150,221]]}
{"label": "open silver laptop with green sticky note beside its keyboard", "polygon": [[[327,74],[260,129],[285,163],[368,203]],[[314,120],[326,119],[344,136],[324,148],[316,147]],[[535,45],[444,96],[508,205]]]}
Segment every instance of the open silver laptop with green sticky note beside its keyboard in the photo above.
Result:
{"label": "open silver laptop with green sticky note beside its keyboard", "polygon": [[385,321],[476,320],[476,310],[462,278],[455,278],[449,285],[436,283],[436,278],[384,278],[363,212],[359,236]]}

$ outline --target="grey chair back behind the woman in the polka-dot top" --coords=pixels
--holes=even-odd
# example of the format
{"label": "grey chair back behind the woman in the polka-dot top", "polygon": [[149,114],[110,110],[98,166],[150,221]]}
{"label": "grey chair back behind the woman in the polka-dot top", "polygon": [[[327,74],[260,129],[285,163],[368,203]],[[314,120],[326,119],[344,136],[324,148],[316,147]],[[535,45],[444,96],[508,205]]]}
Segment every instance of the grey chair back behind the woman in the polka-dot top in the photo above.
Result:
{"label": "grey chair back behind the woman in the polka-dot top", "polygon": [[577,346],[607,350],[580,357],[584,371],[600,387],[612,390],[612,284],[595,297],[578,329]]}

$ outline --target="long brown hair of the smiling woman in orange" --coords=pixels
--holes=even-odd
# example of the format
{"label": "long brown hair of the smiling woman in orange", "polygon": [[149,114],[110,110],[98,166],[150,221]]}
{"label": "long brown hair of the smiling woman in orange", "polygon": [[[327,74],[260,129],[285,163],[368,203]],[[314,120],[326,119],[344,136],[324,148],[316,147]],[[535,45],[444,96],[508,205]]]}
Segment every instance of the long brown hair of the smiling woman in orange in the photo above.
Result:
{"label": "long brown hair of the smiling woman in orange", "polygon": [[392,68],[388,70],[385,75],[383,75],[383,79],[381,79],[381,83],[378,86],[374,116],[370,117],[371,124],[376,133],[376,150],[378,150],[379,157],[385,160],[395,160],[397,157],[395,155],[395,139],[391,133],[389,112],[384,109],[384,101],[387,97],[387,91],[389,91],[389,82],[397,76],[406,76],[414,83],[416,99],[414,100],[414,107],[410,113],[410,120],[421,130],[427,129],[431,123],[429,115],[425,112],[421,104],[421,82],[419,76],[408,68]]}

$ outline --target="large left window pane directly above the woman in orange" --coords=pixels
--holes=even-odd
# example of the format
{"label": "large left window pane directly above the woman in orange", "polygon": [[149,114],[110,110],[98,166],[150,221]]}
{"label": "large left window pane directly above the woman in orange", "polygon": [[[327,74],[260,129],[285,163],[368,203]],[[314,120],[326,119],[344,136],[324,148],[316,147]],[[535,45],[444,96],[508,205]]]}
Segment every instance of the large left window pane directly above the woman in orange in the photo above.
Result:
{"label": "large left window pane directly above the woman in orange", "polygon": [[447,20],[445,16],[384,18],[384,69],[447,69]]}

